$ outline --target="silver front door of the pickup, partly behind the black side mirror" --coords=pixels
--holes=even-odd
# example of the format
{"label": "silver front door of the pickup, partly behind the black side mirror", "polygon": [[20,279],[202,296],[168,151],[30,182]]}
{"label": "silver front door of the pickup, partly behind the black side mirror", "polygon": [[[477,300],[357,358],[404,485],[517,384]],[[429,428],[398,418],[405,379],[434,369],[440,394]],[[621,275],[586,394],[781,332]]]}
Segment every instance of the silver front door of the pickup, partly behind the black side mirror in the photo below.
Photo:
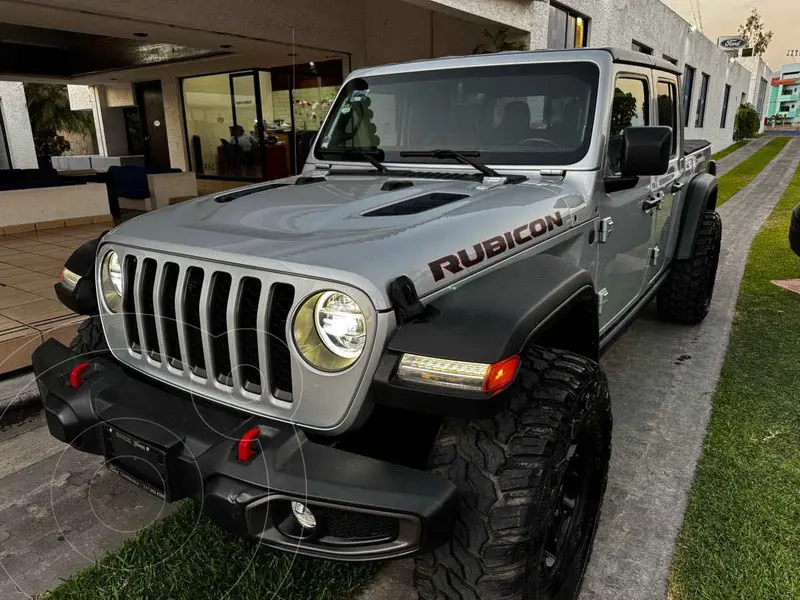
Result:
{"label": "silver front door of the pickup, partly behind the black side mirror", "polygon": [[[650,125],[650,69],[625,66],[616,75],[604,176],[609,184],[599,206],[597,292],[601,333],[631,308],[647,273],[653,216],[643,210],[650,199],[651,177],[640,177],[630,189],[616,189],[622,133],[631,126]],[[602,193],[602,192],[601,192]]]}

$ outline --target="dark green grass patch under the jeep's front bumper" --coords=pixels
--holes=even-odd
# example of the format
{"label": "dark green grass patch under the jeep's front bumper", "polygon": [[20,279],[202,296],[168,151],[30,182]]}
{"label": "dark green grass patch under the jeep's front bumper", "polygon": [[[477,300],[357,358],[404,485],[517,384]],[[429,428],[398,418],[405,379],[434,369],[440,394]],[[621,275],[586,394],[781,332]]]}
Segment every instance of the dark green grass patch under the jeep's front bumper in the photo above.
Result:
{"label": "dark green grass patch under the jeep's front bumper", "polygon": [[376,570],[271,552],[221,531],[185,502],[42,600],[344,600]]}

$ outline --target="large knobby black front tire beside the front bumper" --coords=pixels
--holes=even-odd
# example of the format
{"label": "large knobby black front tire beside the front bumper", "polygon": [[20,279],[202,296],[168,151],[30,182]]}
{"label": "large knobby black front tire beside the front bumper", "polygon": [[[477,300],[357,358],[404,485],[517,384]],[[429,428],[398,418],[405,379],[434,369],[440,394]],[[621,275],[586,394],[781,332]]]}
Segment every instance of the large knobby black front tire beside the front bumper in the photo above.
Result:
{"label": "large knobby black front tire beside the front bumper", "polygon": [[[522,354],[506,407],[486,419],[446,419],[430,457],[432,472],[455,483],[459,506],[445,545],[416,559],[422,600],[568,600],[577,596],[591,554],[611,455],[611,404],[597,363],[560,350]],[[589,433],[588,447],[575,451]],[[579,535],[567,547],[557,589],[543,584],[545,546],[563,510],[570,453],[590,472]],[[571,472],[570,472],[571,474]],[[574,478],[572,479],[574,481]],[[557,506],[557,504],[559,506]],[[576,506],[578,504],[576,503]]]}

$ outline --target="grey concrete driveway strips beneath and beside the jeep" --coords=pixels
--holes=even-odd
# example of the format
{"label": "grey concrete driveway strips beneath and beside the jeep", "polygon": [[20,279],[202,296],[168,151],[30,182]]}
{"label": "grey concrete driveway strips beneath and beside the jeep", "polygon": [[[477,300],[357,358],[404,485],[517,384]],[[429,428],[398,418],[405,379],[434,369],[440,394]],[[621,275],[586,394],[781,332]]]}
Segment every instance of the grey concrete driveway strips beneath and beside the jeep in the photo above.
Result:
{"label": "grey concrete driveway strips beneath and beside the jeep", "polygon": [[[798,160],[794,140],[721,207],[723,253],[708,319],[698,327],[669,326],[651,308],[603,358],[614,451],[581,600],[666,597],[747,252]],[[108,473],[99,457],[65,450],[47,435],[41,416],[0,428],[0,599],[54,587],[166,510]],[[392,564],[362,600],[416,598],[410,573],[409,561]]]}

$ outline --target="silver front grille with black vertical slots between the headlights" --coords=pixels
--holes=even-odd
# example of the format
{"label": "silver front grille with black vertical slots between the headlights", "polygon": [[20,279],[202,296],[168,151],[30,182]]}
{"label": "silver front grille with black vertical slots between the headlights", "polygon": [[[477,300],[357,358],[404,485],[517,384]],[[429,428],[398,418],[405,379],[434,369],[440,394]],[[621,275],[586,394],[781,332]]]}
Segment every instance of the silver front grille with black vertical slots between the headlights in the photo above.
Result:
{"label": "silver front grille with black vertical slots between the headlights", "polygon": [[293,285],[274,274],[150,254],[126,254],[122,268],[123,343],[141,368],[171,366],[161,376],[205,388],[211,397],[277,399],[284,409],[293,401],[287,339]]}

